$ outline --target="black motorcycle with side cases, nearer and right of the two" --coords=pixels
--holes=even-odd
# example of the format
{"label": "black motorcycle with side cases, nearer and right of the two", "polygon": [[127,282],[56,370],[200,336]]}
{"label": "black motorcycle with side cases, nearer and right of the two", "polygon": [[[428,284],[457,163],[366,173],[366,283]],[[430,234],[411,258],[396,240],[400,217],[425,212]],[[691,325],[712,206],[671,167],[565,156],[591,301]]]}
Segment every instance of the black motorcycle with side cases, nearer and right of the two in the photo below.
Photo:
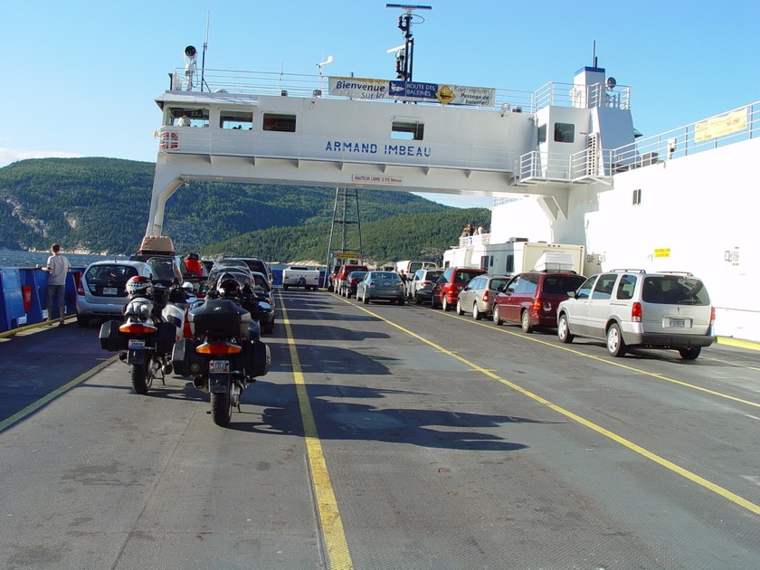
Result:
{"label": "black motorcycle with side cases, nearer and right of the two", "polygon": [[[217,283],[206,299],[189,309],[193,337],[176,343],[172,365],[176,374],[192,376],[193,385],[209,394],[212,419],[225,426],[233,409],[241,411],[242,392],[269,372],[271,356],[261,342],[258,321],[242,308],[240,283],[232,277]],[[258,303],[259,309],[268,309],[268,303]]]}

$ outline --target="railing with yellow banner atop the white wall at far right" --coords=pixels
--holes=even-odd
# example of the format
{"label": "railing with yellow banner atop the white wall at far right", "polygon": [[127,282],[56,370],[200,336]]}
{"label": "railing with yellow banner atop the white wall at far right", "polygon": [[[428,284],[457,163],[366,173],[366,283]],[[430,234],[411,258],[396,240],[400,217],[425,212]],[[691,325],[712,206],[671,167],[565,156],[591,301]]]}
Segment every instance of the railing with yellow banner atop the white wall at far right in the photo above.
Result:
{"label": "railing with yellow banner atop the white wall at far right", "polygon": [[616,172],[760,137],[760,101],[613,150]]}

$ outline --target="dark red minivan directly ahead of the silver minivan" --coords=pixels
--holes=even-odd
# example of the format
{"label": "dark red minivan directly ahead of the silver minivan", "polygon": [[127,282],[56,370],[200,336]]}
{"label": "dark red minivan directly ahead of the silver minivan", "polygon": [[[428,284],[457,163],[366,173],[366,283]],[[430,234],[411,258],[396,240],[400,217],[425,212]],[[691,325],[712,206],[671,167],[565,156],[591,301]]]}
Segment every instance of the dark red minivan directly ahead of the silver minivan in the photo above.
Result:
{"label": "dark red minivan directly ahead of the silver minivan", "polygon": [[493,322],[520,325],[529,333],[556,327],[556,308],[584,282],[570,271],[526,271],[509,280],[494,299]]}

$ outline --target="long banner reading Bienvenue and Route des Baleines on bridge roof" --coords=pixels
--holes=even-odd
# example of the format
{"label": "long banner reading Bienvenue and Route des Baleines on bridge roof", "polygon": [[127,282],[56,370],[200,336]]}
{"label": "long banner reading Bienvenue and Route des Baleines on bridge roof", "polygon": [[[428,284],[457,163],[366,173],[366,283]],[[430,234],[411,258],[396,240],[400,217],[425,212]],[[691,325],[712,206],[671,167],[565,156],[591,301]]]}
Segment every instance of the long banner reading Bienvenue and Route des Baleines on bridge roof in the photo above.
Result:
{"label": "long banner reading Bienvenue and Route des Baleines on bridge roof", "polygon": [[358,77],[330,77],[330,95],[352,99],[425,101],[443,105],[493,107],[496,90],[416,81],[387,81]]}

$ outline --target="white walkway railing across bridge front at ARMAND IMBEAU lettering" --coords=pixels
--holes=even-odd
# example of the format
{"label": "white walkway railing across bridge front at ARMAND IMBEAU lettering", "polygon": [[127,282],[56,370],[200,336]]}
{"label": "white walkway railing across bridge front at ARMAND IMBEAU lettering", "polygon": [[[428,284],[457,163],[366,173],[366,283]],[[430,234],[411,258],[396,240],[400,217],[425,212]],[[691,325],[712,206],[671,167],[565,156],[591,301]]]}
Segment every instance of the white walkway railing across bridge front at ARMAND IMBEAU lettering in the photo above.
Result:
{"label": "white walkway railing across bridge front at ARMAND IMBEAU lettering", "polygon": [[513,173],[514,147],[436,143],[435,153],[418,144],[393,138],[358,143],[350,149],[328,149],[324,137],[293,133],[292,137],[268,137],[268,133],[233,128],[162,127],[157,131],[159,152],[206,157],[257,157],[317,160],[331,163],[365,163],[423,166]]}

